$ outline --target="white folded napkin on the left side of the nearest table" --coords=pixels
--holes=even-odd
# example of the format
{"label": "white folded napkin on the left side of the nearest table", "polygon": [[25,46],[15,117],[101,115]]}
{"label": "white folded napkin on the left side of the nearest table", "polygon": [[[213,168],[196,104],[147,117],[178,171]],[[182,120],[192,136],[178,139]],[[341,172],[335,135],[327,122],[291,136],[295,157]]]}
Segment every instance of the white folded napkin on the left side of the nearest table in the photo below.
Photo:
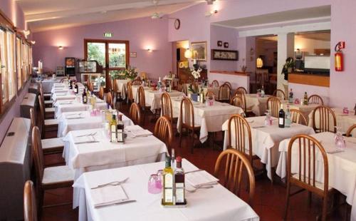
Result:
{"label": "white folded napkin on the left side of the nearest table", "polygon": [[108,185],[90,190],[94,207],[112,205],[129,200],[121,185]]}

